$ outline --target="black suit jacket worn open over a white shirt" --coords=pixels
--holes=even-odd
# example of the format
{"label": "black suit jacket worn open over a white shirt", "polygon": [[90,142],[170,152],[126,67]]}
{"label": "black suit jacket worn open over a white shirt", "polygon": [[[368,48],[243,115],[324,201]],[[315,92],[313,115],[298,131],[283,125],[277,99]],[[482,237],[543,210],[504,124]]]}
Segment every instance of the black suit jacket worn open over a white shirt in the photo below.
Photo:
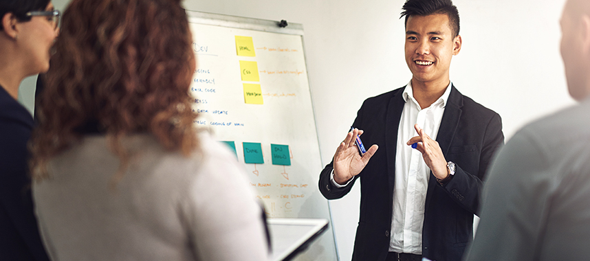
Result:
{"label": "black suit jacket worn open over a white shirt", "polygon": [[[437,141],[447,161],[457,165],[455,176],[444,186],[430,172],[422,256],[430,260],[461,260],[473,238],[473,214],[485,171],[494,152],[504,143],[500,115],[451,87]],[[328,198],[345,196],[357,179],[360,183],[360,218],[352,260],[385,260],[389,251],[397,128],[404,109],[404,88],[365,100],[353,126],[364,130],[365,146],[379,149],[367,166],[345,188],[330,181],[329,163],[320,174],[320,192]]]}

